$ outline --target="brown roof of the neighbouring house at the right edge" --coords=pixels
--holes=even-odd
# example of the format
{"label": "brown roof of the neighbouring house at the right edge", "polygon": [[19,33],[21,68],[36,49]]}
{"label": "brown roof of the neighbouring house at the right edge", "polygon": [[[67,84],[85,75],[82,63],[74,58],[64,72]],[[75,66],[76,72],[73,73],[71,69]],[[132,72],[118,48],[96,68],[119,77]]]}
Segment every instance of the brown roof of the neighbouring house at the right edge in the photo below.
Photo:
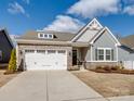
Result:
{"label": "brown roof of the neighbouring house at the right edge", "polygon": [[120,39],[120,42],[124,46],[128,46],[134,49],[134,35],[130,35]]}

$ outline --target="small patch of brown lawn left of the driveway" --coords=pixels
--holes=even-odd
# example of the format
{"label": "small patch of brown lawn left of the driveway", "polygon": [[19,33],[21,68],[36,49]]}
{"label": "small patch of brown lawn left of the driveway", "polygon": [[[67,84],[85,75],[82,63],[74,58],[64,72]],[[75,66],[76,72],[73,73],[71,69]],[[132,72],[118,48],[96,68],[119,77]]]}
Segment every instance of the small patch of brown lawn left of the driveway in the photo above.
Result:
{"label": "small patch of brown lawn left of the driveway", "polygon": [[0,70],[0,87],[5,85],[8,81],[13,79],[17,75],[17,73],[10,74],[10,75],[4,75],[4,72],[5,72],[4,70]]}

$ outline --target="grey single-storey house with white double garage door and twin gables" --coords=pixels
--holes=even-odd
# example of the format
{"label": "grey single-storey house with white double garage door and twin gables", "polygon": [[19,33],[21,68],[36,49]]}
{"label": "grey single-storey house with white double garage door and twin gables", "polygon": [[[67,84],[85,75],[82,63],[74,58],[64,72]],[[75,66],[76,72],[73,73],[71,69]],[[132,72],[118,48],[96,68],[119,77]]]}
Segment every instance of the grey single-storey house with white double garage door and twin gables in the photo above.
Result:
{"label": "grey single-storey house with white double garage door and twin gables", "polygon": [[90,68],[118,65],[133,52],[96,18],[77,34],[32,30],[16,41],[17,66],[23,70],[69,70],[80,63]]}

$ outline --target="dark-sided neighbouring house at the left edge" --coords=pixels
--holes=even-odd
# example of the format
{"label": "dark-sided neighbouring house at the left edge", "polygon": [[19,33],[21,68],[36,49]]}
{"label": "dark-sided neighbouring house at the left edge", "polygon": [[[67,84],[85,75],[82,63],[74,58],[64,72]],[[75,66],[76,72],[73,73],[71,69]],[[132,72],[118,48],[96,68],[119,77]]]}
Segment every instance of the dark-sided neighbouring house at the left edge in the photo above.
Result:
{"label": "dark-sided neighbouring house at the left edge", "polygon": [[9,63],[13,42],[6,29],[0,29],[0,63]]}

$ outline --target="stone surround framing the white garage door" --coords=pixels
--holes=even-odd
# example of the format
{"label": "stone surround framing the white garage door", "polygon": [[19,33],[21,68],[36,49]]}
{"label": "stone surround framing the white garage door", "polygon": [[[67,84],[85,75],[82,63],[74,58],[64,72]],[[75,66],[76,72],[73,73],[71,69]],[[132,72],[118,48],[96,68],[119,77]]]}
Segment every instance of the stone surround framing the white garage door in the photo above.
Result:
{"label": "stone surround framing the white garage door", "polygon": [[40,46],[40,45],[17,45],[18,46],[18,58],[17,58],[17,67],[19,67],[21,60],[24,62],[25,68],[25,50],[66,50],[67,51],[67,70],[72,66],[72,47],[70,46]]}

